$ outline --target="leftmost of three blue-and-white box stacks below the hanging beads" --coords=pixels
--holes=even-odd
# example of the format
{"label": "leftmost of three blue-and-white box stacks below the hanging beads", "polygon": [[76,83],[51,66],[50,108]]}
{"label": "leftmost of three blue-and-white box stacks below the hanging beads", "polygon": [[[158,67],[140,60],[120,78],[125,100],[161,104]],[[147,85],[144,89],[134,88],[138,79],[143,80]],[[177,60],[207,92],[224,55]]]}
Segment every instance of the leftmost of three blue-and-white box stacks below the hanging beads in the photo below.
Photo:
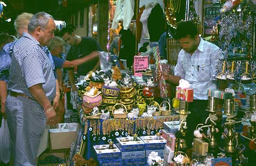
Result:
{"label": "leftmost of three blue-and-white box stacks below the hanging beads", "polygon": [[113,149],[108,148],[109,145],[93,146],[99,166],[122,166],[121,151],[117,145],[113,144]]}

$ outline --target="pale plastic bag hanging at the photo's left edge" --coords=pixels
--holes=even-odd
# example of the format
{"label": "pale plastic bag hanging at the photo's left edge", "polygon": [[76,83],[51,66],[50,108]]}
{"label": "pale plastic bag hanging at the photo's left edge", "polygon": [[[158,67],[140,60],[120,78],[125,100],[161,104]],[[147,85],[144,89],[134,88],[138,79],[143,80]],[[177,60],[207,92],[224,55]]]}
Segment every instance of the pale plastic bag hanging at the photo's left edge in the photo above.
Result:
{"label": "pale plastic bag hanging at the photo's left edge", "polygon": [[6,119],[2,119],[0,127],[0,162],[5,164],[10,161],[10,133]]}

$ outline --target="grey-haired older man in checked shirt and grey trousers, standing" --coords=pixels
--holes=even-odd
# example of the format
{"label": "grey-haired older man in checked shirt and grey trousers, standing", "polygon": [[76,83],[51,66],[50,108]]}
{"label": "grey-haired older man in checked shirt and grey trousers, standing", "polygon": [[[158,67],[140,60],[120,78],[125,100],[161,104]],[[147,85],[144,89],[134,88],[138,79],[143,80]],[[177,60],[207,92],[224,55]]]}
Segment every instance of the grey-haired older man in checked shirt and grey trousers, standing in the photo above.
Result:
{"label": "grey-haired older man in checked shirt and grey trousers, standing", "polygon": [[6,99],[11,153],[15,166],[36,166],[36,155],[45,125],[56,123],[51,101],[56,96],[53,63],[43,50],[54,37],[55,23],[39,12],[13,46]]}

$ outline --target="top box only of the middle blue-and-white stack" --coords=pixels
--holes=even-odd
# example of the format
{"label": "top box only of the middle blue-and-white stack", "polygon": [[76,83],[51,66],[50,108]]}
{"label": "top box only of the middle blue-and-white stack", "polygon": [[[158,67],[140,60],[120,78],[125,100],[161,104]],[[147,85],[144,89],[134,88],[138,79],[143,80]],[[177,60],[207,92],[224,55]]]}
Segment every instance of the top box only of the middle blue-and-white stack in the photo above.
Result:
{"label": "top box only of the middle blue-and-white stack", "polygon": [[145,143],[140,138],[138,138],[138,141],[133,141],[133,137],[122,137],[116,139],[118,141],[117,146],[122,152],[145,151]]}

